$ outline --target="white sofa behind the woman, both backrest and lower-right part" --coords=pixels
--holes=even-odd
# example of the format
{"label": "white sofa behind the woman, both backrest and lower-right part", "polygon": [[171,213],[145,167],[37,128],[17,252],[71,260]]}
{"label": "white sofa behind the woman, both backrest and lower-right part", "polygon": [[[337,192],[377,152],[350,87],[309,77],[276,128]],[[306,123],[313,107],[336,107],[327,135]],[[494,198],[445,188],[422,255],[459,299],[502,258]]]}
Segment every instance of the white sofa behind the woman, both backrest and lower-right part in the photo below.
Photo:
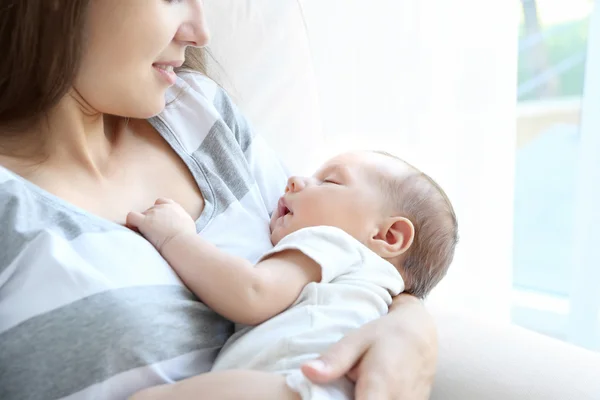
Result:
{"label": "white sofa behind the woman, both backrest and lower-right part", "polygon": [[[307,4],[314,8],[319,2],[205,4],[213,32],[211,50],[220,63],[213,66],[214,77],[293,169],[312,169],[330,150],[324,148],[322,106],[335,101],[331,96],[336,93],[336,88],[325,90],[329,82],[316,77],[310,40],[319,32],[307,30],[310,24],[303,15]],[[600,399],[600,354],[464,311],[439,305],[431,310],[440,337],[433,399]]]}

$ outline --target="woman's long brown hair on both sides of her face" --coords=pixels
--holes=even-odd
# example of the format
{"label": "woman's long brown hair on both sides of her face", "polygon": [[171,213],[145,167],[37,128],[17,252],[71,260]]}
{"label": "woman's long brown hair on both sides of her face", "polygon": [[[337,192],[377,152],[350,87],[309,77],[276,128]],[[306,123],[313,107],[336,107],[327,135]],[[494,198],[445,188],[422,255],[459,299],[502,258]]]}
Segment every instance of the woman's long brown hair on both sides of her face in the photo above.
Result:
{"label": "woman's long brown hair on both sides of her face", "polygon": [[[90,2],[1,0],[0,131],[37,123],[71,88]],[[203,49],[188,48],[182,68],[205,73]]]}

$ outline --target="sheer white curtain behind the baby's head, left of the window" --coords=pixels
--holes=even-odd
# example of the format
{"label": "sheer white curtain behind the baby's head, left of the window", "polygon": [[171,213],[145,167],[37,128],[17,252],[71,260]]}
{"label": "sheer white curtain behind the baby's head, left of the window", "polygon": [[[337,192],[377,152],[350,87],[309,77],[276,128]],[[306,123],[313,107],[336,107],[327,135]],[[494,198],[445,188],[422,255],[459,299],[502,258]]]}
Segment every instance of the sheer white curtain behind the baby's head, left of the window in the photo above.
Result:
{"label": "sheer white curtain behind the baby's head, left of the window", "polygon": [[300,0],[328,146],[391,151],[447,190],[460,246],[432,302],[509,320],[518,2]]}

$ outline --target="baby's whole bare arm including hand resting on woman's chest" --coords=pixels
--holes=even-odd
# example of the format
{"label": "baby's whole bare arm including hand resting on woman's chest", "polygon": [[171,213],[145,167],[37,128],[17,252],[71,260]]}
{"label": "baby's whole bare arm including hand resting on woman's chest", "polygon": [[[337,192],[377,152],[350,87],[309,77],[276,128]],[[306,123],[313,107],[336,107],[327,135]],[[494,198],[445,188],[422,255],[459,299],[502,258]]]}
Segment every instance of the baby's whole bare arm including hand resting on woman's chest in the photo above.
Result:
{"label": "baby's whole bare arm including hand resting on woman's chest", "polygon": [[227,254],[196,234],[179,205],[160,199],[144,212],[130,213],[137,228],[171,264],[188,288],[227,319],[257,325],[296,300],[304,286],[321,279],[321,269],[300,251],[288,250],[253,265]]}

